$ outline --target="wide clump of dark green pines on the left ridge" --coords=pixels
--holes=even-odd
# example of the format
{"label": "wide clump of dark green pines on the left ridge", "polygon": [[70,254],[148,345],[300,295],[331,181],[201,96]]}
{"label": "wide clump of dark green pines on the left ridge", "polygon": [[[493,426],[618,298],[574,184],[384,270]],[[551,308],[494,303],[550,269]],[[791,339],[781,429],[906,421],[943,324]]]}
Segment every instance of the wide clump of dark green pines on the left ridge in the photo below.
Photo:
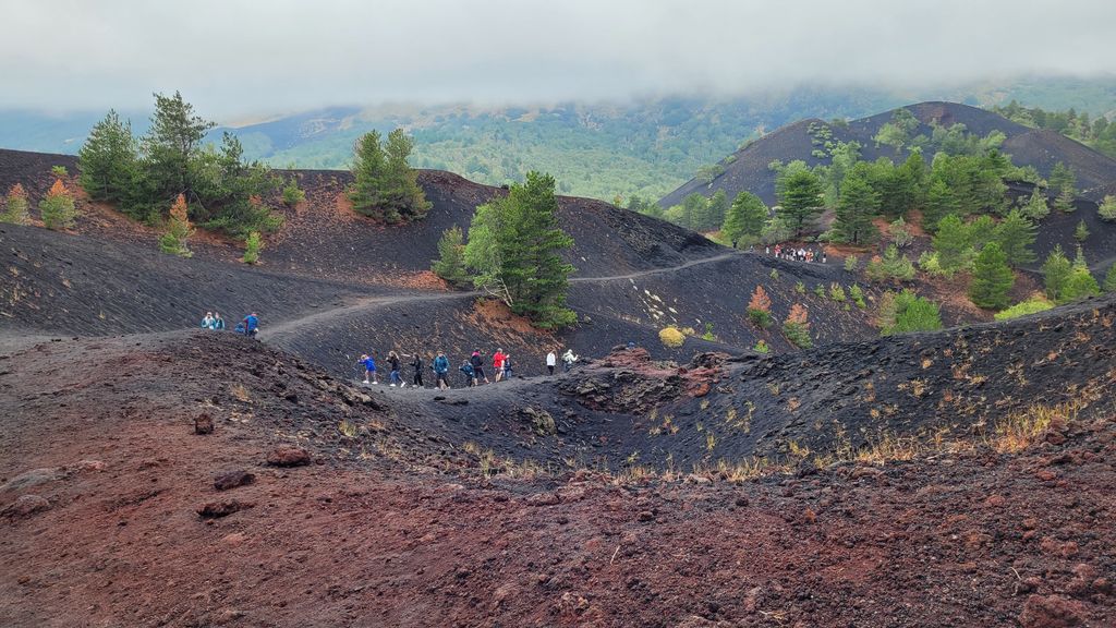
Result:
{"label": "wide clump of dark green pines on the left ridge", "polygon": [[235,136],[224,133],[220,148],[205,142],[214,126],[177,92],[155,94],[151,129],[142,137],[109,111],[78,152],[78,182],[90,198],[146,222],[162,222],[181,194],[190,220],[205,229],[237,237],[277,229],[281,219],[262,202],[276,189],[275,178],[244,161]]}

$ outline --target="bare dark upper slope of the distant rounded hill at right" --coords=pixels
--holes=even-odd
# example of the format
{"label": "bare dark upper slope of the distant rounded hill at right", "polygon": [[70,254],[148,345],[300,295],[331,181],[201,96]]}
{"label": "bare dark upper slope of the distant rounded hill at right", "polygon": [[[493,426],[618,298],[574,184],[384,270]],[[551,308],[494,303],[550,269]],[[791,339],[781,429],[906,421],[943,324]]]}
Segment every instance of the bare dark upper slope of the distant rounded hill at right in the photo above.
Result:
{"label": "bare dark upper slope of the distant rounded hill at right", "polygon": [[[1061,161],[1077,173],[1078,188],[1088,199],[1099,200],[1100,189],[1116,181],[1116,160],[1058,133],[1029,129],[998,114],[956,103],[920,103],[905,108],[922,123],[918,133],[927,135],[931,132],[931,122],[943,126],[964,124],[970,132],[982,136],[992,131],[1000,131],[1007,136],[1003,151],[1012,155],[1014,163],[1033,165],[1043,175],[1049,174],[1055,163]],[[906,151],[876,145],[873,140],[879,127],[892,120],[893,113],[886,112],[854,120],[845,129],[830,125],[833,139],[858,142],[862,146],[862,159],[865,161],[875,161],[881,156],[896,162],[906,159],[908,154]],[[763,202],[773,204],[775,173],[768,169],[769,163],[775,160],[785,163],[802,160],[809,165],[818,165],[828,161],[828,158],[822,160],[811,154],[818,148],[811,144],[808,132],[811,123],[826,124],[820,120],[804,120],[779,129],[737,151],[732,155],[735,159],[731,163],[722,161],[724,173],[712,182],[704,183],[691,179],[677,190],[663,197],[658,203],[662,207],[671,207],[681,203],[693,192],[710,197],[718,190],[724,190],[730,199],[742,191],[751,191],[762,198]],[[934,155],[924,156],[929,160]]]}

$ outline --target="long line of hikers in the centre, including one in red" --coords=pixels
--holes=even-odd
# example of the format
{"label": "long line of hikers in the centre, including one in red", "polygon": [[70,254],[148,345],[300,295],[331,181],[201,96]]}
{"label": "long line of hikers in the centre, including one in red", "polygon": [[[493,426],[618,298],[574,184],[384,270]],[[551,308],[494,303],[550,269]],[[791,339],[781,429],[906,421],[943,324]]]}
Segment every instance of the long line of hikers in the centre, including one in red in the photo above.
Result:
{"label": "long line of hikers in the centre, including one in red", "polygon": [[[415,353],[398,353],[396,351],[388,351],[387,361],[388,381],[392,387],[406,388],[407,383],[403,380],[401,375],[401,370],[403,367],[403,359],[410,358],[411,362],[407,365],[413,370],[411,378],[411,386],[416,388],[425,388],[423,382],[423,372],[425,362],[423,361],[422,354],[420,352]],[[578,356],[574,353],[571,349],[567,349],[566,353],[562,354],[561,361],[565,365],[565,370],[569,371],[570,368],[577,362]],[[484,383],[494,383],[489,380],[488,373],[484,372],[484,355],[478,349],[473,351],[472,355],[464,359],[458,370],[461,371],[463,375],[463,383],[465,388],[480,386],[481,380]],[[558,364],[558,355],[551,351],[547,353],[546,358],[547,372],[549,374],[555,374],[555,367]],[[364,383],[366,384],[378,384],[379,377],[376,369],[376,359],[369,354],[364,353],[360,355],[360,360],[357,362],[357,367],[364,368]],[[434,372],[434,388],[446,389],[452,388],[450,386],[450,359],[445,356],[444,352],[439,351],[434,360],[431,361],[430,369]],[[496,353],[492,354],[492,377],[496,382],[507,381],[512,378],[513,371],[511,368],[511,355],[504,353],[502,349],[497,349]]]}

